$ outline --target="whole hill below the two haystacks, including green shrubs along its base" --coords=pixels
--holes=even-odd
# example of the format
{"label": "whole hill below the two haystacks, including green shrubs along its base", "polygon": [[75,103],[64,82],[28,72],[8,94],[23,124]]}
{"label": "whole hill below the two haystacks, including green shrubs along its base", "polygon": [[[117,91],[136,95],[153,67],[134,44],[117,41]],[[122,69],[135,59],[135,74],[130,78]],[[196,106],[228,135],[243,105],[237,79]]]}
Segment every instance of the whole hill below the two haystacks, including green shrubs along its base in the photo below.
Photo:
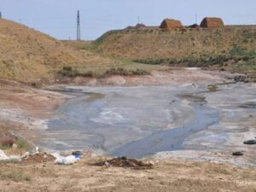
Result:
{"label": "whole hill below the two haystacks, including green shrubs along its base", "polygon": [[250,79],[256,79],[256,26],[172,30],[128,27],[107,32],[84,47],[76,46],[138,63],[210,67],[247,73]]}

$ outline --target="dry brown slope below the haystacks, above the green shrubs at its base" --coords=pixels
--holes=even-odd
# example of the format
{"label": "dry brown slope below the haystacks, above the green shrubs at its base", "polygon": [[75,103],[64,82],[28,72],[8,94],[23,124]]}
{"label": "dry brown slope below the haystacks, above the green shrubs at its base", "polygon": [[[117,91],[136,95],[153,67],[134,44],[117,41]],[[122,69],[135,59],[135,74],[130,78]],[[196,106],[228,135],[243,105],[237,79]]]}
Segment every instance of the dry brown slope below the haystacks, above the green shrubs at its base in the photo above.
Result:
{"label": "dry brown slope below the haystacks, above the green shrubs at its base", "polygon": [[107,32],[92,43],[90,49],[104,55],[137,60],[224,54],[234,46],[256,50],[256,26],[176,30],[126,28]]}

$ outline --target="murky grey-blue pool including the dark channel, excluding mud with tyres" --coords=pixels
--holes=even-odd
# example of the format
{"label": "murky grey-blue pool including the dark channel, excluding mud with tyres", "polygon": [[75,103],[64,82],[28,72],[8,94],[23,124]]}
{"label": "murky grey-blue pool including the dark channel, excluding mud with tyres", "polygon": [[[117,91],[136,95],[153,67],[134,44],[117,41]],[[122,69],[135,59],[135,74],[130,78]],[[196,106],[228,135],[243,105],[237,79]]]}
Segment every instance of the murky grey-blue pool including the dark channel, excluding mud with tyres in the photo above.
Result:
{"label": "murky grey-blue pool including the dark channel, excluding mud with tyres", "polygon": [[70,87],[82,95],[49,119],[38,143],[54,150],[92,149],[141,158],[183,148],[183,141],[218,123],[218,110],[196,94],[206,86]]}

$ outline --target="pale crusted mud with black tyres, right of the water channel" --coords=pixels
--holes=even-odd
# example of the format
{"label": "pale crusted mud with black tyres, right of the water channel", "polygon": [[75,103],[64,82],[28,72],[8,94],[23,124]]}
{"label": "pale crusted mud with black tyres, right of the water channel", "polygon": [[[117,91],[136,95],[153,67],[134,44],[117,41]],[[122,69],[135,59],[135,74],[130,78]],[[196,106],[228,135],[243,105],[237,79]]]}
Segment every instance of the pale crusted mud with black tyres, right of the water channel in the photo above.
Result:
{"label": "pale crusted mud with black tyres, right of the water channel", "polygon": [[[208,106],[218,109],[219,123],[188,137],[183,143],[183,151],[160,152],[154,157],[255,166],[255,146],[243,144],[256,136],[255,93],[255,84],[222,85],[216,92],[201,93]],[[234,151],[242,151],[244,155],[234,157]]]}

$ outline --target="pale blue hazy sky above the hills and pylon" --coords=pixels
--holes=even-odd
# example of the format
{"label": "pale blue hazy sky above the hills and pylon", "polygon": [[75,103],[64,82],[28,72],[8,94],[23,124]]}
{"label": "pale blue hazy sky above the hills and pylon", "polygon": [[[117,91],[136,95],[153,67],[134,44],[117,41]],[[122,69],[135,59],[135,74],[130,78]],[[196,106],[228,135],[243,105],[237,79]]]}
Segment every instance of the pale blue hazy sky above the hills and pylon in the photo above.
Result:
{"label": "pale blue hazy sky above the hills and pylon", "polygon": [[148,26],[159,26],[164,18],[190,25],[196,14],[198,22],[205,16],[219,16],[225,24],[256,24],[255,0],[0,0],[4,18],[59,39],[76,37],[77,9],[83,39],[134,26],[138,16]]}

